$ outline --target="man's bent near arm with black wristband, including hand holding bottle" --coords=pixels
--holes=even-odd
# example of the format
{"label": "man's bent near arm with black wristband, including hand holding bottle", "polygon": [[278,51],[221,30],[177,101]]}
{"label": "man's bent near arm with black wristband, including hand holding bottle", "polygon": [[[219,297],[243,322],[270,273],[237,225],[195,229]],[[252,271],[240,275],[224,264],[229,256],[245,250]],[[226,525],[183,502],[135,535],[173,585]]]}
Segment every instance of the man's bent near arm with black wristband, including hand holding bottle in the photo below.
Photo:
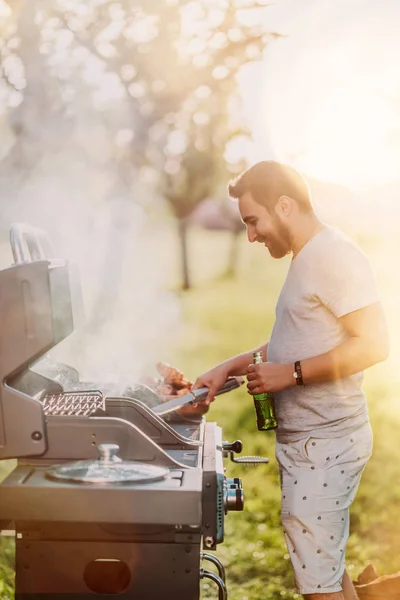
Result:
{"label": "man's bent near arm with black wristband, including hand holding bottle", "polygon": [[[385,360],[389,353],[389,336],[380,302],[339,318],[348,339],[329,352],[301,360],[304,384],[334,381],[354,375]],[[265,363],[248,368],[250,394],[279,392],[295,386],[294,365]]]}

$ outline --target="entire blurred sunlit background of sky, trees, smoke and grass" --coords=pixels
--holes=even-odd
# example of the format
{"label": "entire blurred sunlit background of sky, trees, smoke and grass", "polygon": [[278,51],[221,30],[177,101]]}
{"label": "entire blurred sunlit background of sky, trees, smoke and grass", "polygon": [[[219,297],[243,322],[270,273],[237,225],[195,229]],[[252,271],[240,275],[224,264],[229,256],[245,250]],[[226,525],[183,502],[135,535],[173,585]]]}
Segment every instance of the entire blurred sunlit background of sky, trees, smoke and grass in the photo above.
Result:
{"label": "entire blurred sunlit background of sky, trees, smoke and grass", "polygon": [[[226,192],[258,160],[302,171],[318,214],[368,254],[392,351],[366,376],[377,449],[353,573],[399,568],[399,23],[394,0],[0,0],[0,267],[22,221],[82,276],[86,325],[52,358],[92,381],[158,360],[194,379],[264,341],[288,261],[247,243]],[[210,418],[272,455],[238,398]],[[268,494],[245,473],[222,550],[232,600],[298,597],[262,476]],[[0,556],[0,597],[5,572]]]}

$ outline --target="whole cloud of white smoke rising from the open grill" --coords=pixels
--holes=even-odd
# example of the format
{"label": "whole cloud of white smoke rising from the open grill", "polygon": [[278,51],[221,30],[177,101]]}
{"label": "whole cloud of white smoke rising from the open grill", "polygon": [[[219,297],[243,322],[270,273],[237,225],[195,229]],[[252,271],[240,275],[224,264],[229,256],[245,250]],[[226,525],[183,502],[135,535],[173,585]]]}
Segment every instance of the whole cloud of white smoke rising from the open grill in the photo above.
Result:
{"label": "whole cloud of white smoke rising from the open grill", "polygon": [[[53,132],[58,151],[40,148],[24,177],[7,174],[17,184],[13,197],[3,194],[1,229],[14,221],[40,227],[60,258],[78,266],[85,323],[46,360],[75,367],[82,381],[120,389],[168,360],[173,348],[180,319],[179,301],[167,291],[174,255],[160,233],[158,208],[165,209],[151,181],[133,166],[128,183],[121,178],[116,155],[130,140],[121,133],[123,98],[111,112],[81,100],[77,95],[70,106],[68,134],[65,125]],[[4,243],[1,260],[11,263]]]}

